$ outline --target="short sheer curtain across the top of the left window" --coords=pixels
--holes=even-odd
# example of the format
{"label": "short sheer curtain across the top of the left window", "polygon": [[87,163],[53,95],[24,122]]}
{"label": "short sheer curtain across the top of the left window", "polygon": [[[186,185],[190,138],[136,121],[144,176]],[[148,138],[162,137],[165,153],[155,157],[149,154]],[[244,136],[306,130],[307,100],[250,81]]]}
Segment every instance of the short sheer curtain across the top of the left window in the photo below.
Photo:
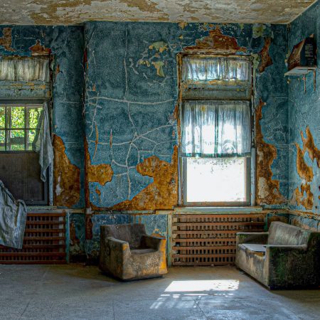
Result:
{"label": "short sheer curtain across the top of the left window", "polygon": [[0,58],[0,80],[50,80],[48,58]]}

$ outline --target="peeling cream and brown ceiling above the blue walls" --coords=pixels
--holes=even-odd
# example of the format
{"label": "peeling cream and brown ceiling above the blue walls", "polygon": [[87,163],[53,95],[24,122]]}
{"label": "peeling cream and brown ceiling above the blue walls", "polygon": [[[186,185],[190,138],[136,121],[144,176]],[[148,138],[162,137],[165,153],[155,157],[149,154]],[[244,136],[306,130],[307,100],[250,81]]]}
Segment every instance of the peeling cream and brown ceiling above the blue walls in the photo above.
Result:
{"label": "peeling cream and brown ceiling above the blue walls", "polygon": [[1,0],[0,24],[84,21],[289,23],[314,0]]}

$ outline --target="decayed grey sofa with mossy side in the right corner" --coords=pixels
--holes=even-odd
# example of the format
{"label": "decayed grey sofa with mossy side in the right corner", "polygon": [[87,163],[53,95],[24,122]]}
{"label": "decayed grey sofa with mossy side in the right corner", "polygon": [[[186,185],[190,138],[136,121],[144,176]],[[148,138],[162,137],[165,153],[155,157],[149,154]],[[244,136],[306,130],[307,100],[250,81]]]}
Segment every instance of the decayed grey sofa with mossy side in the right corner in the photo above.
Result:
{"label": "decayed grey sofa with mossy side in the right corner", "polygon": [[319,287],[320,233],[281,222],[237,233],[235,265],[270,289]]}

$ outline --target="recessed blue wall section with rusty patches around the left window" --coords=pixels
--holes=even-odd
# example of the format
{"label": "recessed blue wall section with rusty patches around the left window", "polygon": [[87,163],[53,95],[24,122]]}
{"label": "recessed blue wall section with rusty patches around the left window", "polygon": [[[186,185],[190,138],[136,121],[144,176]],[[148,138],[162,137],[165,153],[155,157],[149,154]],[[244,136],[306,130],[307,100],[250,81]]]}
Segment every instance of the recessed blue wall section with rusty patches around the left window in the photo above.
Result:
{"label": "recessed blue wall section with rusty patches around the left window", "polygon": [[[57,206],[84,206],[83,192],[83,28],[45,26],[3,26],[1,55],[48,55],[53,61],[53,133],[55,134],[55,200]],[[0,85],[1,97],[37,97],[40,85],[23,84],[18,90]],[[48,89],[48,88],[47,88]],[[70,169],[74,169],[65,175]],[[66,183],[61,184],[58,181]]]}

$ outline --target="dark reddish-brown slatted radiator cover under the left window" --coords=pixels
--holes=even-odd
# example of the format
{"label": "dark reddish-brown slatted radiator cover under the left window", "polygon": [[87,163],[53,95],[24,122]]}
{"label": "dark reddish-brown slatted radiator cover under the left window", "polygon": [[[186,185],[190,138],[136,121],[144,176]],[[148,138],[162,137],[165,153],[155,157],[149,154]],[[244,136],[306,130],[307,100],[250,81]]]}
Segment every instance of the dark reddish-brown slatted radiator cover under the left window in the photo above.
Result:
{"label": "dark reddish-brown slatted radiator cover under the left window", "polygon": [[66,263],[65,213],[28,213],[22,249],[0,245],[0,264]]}

